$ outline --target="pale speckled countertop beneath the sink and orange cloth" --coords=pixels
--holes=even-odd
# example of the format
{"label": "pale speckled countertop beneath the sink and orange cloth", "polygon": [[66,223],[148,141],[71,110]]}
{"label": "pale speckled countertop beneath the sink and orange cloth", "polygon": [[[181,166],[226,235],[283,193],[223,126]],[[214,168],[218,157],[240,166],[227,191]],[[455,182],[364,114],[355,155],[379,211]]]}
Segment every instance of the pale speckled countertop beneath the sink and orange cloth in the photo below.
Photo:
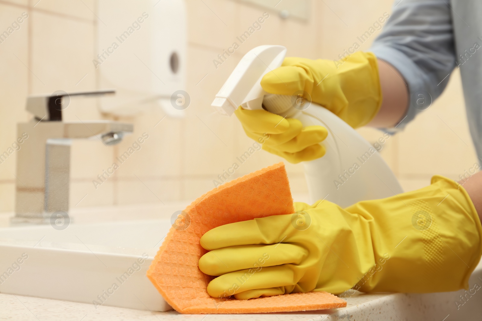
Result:
{"label": "pale speckled countertop beneath the sink and orange cloth", "polygon": [[[470,278],[469,286],[482,284],[482,266]],[[182,315],[174,310],[151,312],[29,297],[0,294],[0,320],[145,320],[145,321],[358,321],[358,320],[480,320],[482,291],[466,296],[465,292],[431,294],[355,294],[344,297],[346,308],[289,313]],[[459,302],[457,305],[456,302]],[[460,305],[460,303],[463,303]]]}

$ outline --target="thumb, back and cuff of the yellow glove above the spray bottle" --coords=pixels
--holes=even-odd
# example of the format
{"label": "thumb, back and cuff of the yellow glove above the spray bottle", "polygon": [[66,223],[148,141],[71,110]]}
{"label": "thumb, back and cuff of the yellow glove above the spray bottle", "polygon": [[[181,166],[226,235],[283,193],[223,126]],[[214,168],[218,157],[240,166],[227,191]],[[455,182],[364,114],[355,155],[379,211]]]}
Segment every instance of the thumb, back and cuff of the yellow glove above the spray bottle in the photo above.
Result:
{"label": "thumb, back and cuff of the yellow glove above the spray bottle", "polygon": [[312,102],[353,128],[368,124],[382,104],[378,64],[371,52],[358,51],[341,61],[288,57],[261,79],[261,87],[279,95],[305,91]]}

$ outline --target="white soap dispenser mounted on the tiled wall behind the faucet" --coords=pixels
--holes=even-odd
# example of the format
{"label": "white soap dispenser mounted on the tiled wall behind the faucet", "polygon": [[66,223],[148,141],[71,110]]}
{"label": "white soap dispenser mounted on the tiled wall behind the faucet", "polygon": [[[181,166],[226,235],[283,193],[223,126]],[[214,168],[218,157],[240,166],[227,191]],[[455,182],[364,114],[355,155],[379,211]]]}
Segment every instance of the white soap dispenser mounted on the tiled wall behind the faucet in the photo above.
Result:
{"label": "white soap dispenser mounted on the tiled wall behind the faucet", "polygon": [[100,110],[134,116],[160,108],[167,116],[184,117],[189,104],[174,102],[182,96],[189,101],[185,91],[186,1],[93,2],[98,15],[92,60],[95,73],[89,71],[87,77],[97,79],[99,88],[115,88],[117,92],[114,97],[100,99]]}

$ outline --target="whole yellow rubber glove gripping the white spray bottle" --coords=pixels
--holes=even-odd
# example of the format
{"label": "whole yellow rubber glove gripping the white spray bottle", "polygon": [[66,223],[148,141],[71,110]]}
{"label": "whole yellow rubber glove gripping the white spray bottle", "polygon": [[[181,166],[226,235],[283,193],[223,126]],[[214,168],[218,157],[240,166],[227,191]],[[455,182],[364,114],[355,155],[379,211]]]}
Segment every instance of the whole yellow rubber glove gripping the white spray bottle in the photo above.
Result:
{"label": "whole yellow rubber glove gripping the white spray bottle", "polygon": [[[368,124],[382,103],[377,60],[371,52],[355,52],[338,62],[288,57],[281,67],[261,79],[261,86],[280,95],[305,91],[312,102],[327,108],[353,128]],[[263,149],[290,163],[310,161],[325,154],[319,143],[326,138],[327,131],[321,126],[303,128],[296,119],[283,119],[265,110],[239,107],[235,113],[250,138],[261,141],[264,134],[269,134]]]}

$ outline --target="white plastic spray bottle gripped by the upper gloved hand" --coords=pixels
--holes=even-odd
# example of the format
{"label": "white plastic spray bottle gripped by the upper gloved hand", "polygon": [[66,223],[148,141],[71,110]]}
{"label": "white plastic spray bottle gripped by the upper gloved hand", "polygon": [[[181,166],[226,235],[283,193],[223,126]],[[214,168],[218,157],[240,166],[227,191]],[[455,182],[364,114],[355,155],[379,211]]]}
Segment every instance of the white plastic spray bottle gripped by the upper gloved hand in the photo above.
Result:
{"label": "white plastic spray bottle gripped by the upper gloved hand", "polygon": [[[338,116],[301,96],[273,95],[263,90],[261,78],[281,66],[285,54],[285,47],[272,45],[246,53],[217,93],[212,103],[214,109],[231,116],[238,106],[264,108],[299,119],[303,126],[328,129],[327,138],[321,142],[326,154],[303,162],[311,202],[326,199],[345,207],[402,193],[398,180],[376,149]],[[380,135],[380,145],[387,137]]]}

